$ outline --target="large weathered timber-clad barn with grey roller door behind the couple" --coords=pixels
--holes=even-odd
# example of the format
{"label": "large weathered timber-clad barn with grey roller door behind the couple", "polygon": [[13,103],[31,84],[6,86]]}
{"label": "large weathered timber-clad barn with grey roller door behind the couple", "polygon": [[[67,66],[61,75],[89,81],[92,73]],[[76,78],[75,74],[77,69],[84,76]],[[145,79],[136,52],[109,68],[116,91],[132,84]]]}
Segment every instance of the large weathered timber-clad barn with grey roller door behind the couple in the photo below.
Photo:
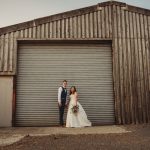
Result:
{"label": "large weathered timber-clad barn with grey roller door behind the couple", "polygon": [[0,28],[0,126],[55,126],[66,79],[93,125],[150,122],[150,10],[107,1]]}

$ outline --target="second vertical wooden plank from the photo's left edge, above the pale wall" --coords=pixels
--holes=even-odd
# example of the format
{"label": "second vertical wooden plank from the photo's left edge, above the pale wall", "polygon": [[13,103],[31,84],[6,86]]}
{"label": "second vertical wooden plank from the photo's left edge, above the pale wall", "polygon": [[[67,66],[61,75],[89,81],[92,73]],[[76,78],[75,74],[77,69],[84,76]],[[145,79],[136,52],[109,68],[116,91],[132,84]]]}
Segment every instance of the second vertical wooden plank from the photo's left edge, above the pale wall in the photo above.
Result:
{"label": "second vertical wooden plank from the photo's left edge, above the pale wall", "polygon": [[9,34],[5,35],[5,44],[4,44],[4,71],[8,71],[8,55],[9,55]]}

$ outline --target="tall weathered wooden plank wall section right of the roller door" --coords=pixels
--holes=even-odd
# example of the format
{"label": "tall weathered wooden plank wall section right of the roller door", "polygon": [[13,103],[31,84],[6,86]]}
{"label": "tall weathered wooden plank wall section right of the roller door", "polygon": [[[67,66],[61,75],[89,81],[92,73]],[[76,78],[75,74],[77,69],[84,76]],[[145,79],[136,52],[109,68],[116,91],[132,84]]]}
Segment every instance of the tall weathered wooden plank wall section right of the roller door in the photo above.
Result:
{"label": "tall weathered wooden plank wall section right of the roller door", "polygon": [[150,16],[113,6],[113,73],[118,123],[150,121]]}

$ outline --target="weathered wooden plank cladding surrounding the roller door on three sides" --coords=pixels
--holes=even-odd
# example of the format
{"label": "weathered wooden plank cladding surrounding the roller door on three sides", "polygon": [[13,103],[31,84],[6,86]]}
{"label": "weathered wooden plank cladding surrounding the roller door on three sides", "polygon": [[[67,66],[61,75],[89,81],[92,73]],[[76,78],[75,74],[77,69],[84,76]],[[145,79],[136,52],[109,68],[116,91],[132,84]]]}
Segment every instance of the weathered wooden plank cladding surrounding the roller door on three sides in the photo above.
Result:
{"label": "weathered wooden plank cladding surrounding the roller door on three sides", "polygon": [[1,34],[0,75],[16,75],[18,38],[111,39],[116,123],[150,122],[150,11],[131,8],[98,4]]}

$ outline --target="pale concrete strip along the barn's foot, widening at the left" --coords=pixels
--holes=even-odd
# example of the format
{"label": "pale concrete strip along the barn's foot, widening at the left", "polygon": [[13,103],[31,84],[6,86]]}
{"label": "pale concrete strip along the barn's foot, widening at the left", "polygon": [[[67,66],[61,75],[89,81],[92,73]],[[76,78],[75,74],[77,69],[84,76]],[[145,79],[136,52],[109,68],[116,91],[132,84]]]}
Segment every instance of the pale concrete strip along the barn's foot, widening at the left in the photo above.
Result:
{"label": "pale concrete strip along the barn's foot, widening at the left", "polygon": [[60,134],[110,134],[131,132],[124,126],[94,126],[85,128],[62,128],[62,127],[13,127],[0,128],[0,146],[13,144],[25,136],[47,136]]}

